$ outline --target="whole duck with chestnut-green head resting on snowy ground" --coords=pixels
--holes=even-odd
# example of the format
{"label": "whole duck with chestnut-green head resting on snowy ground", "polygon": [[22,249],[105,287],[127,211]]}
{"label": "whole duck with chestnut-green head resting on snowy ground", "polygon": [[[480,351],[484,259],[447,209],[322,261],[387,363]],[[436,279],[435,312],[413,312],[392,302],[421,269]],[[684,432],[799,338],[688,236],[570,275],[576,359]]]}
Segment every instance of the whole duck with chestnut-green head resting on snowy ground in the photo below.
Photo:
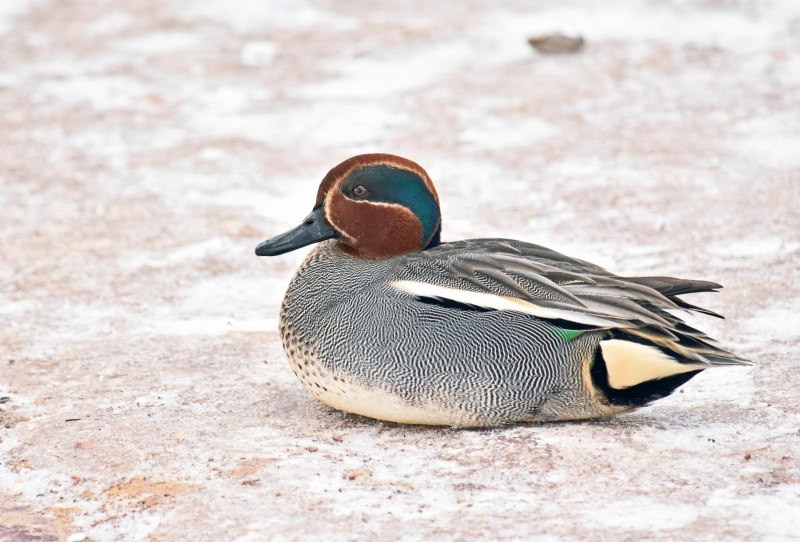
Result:
{"label": "whole duck with chestnut-green head resting on snowy ground", "polygon": [[284,351],[326,405],[400,424],[602,418],[706,369],[750,365],[676,313],[719,284],[618,276],[511,239],[442,242],[427,172],[392,154],[331,169],[311,213],[258,256],[316,246],[280,308]]}

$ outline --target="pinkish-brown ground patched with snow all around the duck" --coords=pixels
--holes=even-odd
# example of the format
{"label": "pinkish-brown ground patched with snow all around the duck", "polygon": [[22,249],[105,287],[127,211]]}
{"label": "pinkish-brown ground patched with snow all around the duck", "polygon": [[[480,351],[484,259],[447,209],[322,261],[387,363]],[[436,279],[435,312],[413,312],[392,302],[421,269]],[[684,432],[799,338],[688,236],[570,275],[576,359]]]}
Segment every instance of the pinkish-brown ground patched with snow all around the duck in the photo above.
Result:
{"label": "pinkish-brown ground patched with snow all around the duck", "polygon": [[[376,151],[445,240],[723,283],[693,322],[758,366],[499,430],[315,402],[304,251],[253,248]],[[0,209],[2,540],[800,540],[796,0],[6,0]]]}

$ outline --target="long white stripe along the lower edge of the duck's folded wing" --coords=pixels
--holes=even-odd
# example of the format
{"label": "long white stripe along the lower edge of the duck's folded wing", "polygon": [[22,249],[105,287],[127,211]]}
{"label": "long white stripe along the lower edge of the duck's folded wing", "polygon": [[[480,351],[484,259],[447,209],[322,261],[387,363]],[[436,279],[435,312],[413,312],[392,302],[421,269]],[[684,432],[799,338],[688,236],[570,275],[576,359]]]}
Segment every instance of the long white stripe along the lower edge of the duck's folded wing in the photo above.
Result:
{"label": "long white stripe along the lower edge of the duck's folded wing", "polygon": [[522,312],[547,320],[567,320],[575,322],[576,324],[597,327],[629,327],[624,322],[616,319],[603,318],[600,315],[587,314],[585,312],[579,312],[578,310],[569,311],[542,307],[530,301],[512,296],[459,290],[458,288],[448,288],[447,286],[438,286],[436,284],[412,280],[398,280],[392,282],[390,286],[414,296],[449,299],[457,303],[499,311]]}

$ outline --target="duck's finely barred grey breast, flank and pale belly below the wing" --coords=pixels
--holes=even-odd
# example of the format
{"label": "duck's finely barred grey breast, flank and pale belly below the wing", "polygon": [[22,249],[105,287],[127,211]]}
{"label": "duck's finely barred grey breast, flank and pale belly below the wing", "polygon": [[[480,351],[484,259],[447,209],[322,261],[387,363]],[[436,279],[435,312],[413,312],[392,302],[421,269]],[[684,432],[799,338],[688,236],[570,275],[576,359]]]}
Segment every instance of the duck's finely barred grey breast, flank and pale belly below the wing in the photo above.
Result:
{"label": "duck's finely barred grey breast, flank and pale belly below the wing", "polygon": [[280,323],[306,389],[334,408],[413,424],[487,426],[609,413],[584,383],[597,334],[566,341],[534,317],[423,303],[392,286],[464,245],[378,262],[344,254],[332,241],[309,254]]}

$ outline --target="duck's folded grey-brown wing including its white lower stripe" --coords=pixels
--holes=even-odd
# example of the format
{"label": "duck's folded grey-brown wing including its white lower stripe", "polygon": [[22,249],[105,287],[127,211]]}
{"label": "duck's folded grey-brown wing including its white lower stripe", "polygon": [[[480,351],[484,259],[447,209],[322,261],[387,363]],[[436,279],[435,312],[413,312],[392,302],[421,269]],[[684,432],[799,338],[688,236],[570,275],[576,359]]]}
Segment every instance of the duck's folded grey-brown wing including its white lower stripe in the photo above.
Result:
{"label": "duck's folded grey-brown wing including its white lower stripe", "polygon": [[716,313],[678,296],[719,284],[622,277],[554,250],[507,239],[445,243],[401,260],[390,286],[426,302],[527,314],[574,331],[610,330],[701,365],[747,364],[673,314]]}

